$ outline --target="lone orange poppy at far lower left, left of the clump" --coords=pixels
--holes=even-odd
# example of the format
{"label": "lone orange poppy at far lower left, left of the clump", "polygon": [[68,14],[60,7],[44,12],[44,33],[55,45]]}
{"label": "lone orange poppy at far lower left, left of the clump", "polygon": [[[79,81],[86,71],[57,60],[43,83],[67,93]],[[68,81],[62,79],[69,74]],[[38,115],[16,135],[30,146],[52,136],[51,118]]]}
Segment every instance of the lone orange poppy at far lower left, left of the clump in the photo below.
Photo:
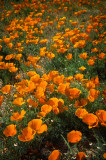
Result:
{"label": "lone orange poppy at far lower left, left of the clump", "polygon": [[14,135],[16,135],[17,133],[17,130],[16,130],[16,125],[14,124],[10,124],[8,125],[5,130],[3,131],[3,134],[6,136],[6,137],[12,137]]}

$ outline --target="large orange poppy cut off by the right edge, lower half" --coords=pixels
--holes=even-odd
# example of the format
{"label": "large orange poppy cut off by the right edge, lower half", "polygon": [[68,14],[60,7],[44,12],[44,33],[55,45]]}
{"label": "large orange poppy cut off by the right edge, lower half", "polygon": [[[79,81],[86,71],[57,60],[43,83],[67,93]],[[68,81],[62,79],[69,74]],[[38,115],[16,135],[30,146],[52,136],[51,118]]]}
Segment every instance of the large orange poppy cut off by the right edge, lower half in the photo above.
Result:
{"label": "large orange poppy cut off by the right edge, lower half", "polygon": [[106,111],[98,110],[96,111],[96,116],[98,117],[101,125],[106,127]]}

